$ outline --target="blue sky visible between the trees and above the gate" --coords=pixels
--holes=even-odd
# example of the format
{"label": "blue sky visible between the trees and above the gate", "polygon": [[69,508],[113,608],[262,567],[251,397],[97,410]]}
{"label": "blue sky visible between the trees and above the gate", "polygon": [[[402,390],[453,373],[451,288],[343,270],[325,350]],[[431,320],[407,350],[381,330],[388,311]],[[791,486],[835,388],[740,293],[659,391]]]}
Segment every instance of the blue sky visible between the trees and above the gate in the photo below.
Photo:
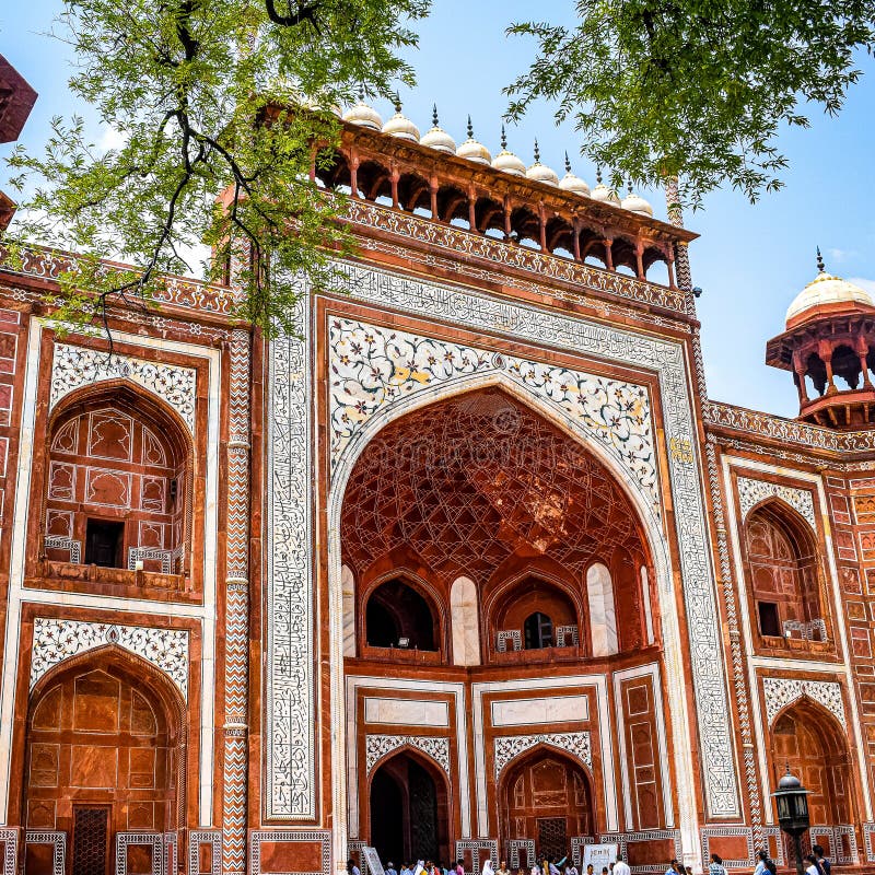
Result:
{"label": "blue sky visible between the trees and above the gate", "polygon": [[[505,37],[504,27],[533,9],[539,18],[570,20],[573,5],[572,0],[434,0],[431,16],[418,25],[420,48],[410,60],[419,84],[401,93],[405,114],[424,131],[436,103],[442,127],[458,140],[470,113],[477,138],[494,153],[506,105],[501,91],[526,69],[534,50],[524,39]],[[22,138],[33,149],[45,142],[54,115],[77,110],[88,117],[67,92],[67,47],[43,35],[59,9],[58,0],[0,8],[0,52],[39,92]],[[783,136],[780,147],[791,168],[782,191],[752,207],[734,191],[718,191],[703,211],[686,217],[702,235],[690,257],[693,281],[704,289],[698,308],[712,398],[784,416],[797,412],[791,376],[762,360],[766,341],[783,328],[788,305],[816,272],[817,245],[830,272],[875,293],[875,61],[863,57],[860,65],[865,75],[838,119],[813,107],[812,129]],[[578,175],[594,184],[594,168],[574,160],[573,130],[557,129],[548,106],[537,107],[508,136],[526,162],[537,137],[541,161],[557,170],[568,150]],[[0,147],[0,158],[4,154],[8,148]],[[0,165],[0,188],[5,173]],[[643,194],[664,218],[662,194]]]}

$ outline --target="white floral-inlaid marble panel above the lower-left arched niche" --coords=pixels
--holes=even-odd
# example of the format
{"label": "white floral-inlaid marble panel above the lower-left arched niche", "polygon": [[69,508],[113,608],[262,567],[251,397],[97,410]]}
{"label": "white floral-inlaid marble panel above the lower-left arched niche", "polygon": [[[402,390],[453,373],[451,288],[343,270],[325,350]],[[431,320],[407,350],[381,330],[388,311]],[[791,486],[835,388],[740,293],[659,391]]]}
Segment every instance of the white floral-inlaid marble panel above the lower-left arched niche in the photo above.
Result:
{"label": "white floral-inlaid marble panel above the lower-left arched niche", "polygon": [[188,632],[44,617],[34,620],[31,689],[58,663],[104,644],[116,644],[152,663],[188,699]]}

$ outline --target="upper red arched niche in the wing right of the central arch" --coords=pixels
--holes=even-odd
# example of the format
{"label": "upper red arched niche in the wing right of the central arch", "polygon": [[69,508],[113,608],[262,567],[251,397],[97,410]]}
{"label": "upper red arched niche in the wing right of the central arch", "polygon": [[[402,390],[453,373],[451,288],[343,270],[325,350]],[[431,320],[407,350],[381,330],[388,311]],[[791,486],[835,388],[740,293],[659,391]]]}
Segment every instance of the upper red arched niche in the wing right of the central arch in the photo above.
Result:
{"label": "upper red arched niche in the wing right of the central arch", "polygon": [[745,517],[744,546],[752,625],[765,643],[829,638],[817,542],[808,524],[780,499]]}

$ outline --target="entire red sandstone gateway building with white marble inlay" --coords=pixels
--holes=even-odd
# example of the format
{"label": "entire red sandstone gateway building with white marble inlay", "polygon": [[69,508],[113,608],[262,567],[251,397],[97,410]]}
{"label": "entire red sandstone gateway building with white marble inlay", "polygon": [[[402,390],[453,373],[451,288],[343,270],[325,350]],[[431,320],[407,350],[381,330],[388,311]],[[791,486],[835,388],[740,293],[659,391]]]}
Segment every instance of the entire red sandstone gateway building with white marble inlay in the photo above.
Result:
{"label": "entire red sandstone gateway building with white marble inlay", "polygon": [[871,868],[868,295],[792,302],[785,420],[642,198],[363,103],[313,173],[358,249],[270,341],[168,278],[109,358],[0,268],[3,875],[785,865],[788,767]]}

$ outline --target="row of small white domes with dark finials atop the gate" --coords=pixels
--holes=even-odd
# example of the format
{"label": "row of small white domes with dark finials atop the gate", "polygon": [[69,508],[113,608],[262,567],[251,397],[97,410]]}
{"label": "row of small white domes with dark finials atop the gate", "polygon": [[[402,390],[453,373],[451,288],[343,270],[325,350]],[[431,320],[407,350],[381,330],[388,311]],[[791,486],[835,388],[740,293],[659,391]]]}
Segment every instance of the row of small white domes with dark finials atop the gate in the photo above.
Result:
{"label": "row of small white domes with dark finials atop the gate", "polygon": [[571,172],[568,154],[565,154],[565,175],[560,179],[556,171],[540,163],[537,140],[535,140],[535,163],[526,167],[520,158],[508,151],[508,140],[504,136],[503,126],[501,129],[501,152],[492,158],[489,150],[474,138],[470,116],[468,117],[468,139],[456,145],[455,140],[438,124],[436,107],[432,116],[432,127],[422,137],[419,136],[419,128],[401,113],[400,104],[396,104],[395,109],[395,115],[384,124],[380,113],[360,98],[343,113],[343,120],[352,125],[361,125],[363,128],[382,131],[389,137],[411,140],[421,145],[427,145],[429,149],[434,149],[436,152],[464,158],[475,164],[491,165],[495,170],[512,176],[524,176],[533,182],[556,186],[563,191],[581,197],[610,203],[615,207],[622,207],[640,215],[653,215],[653,207],[644,198],[633,194],[631,185],[629,186],[629,194],[620,200],[617,192],[602,182],[600,171],[596,174],[596,187],[590,190],[590,186]]}

